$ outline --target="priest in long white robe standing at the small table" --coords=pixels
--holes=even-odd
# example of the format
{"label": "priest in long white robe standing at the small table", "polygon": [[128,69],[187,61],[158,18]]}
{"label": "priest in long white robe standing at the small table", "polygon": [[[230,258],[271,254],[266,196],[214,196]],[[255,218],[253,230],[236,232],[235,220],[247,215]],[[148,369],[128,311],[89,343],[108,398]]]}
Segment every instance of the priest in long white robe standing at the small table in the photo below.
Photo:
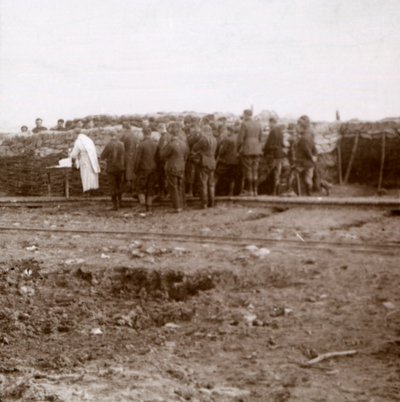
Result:
{"label": "priest in long white robe standing at the small table", "polygon": [[100,166],[94,142],[79,128],[74,130],[78,134],[70,158],[75,160],[75,166],[81,171],[83,192],[99,188]]}

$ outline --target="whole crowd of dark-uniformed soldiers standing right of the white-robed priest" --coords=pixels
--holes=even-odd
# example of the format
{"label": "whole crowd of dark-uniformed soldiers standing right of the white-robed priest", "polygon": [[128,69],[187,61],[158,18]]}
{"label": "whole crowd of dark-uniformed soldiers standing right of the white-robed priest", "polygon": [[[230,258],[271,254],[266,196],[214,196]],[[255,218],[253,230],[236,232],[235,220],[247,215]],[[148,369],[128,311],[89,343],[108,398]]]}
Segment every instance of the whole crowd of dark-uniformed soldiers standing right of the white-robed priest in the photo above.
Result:
{"label": "whole crowd of dark-uniformed soldiers standing right of the white-robed priest", "polygon": [[[301,180],[305,193],[313,191],[316,174],[316,148],[310,119],[302,116],[296,125],[297,137],[286,151],[282,126],[269,120],[269,135],[262,144],[262,126],[245,110],[240,126],[227,127],[221,119],[211,125],[208,117],[191,118],[168,125],[159,124],[159,140],[152,137],[150,126],[143,128],[143,138],[124,124],[123,133],[114,134],[106,144],[101,159],[106,161],[113,209],[121,204],[123,192],[137,194],[147,211],[156,195],[169,193],[175,212],[185,207],[186,195],[197,195],[200,207],[215,205],[216,185],[223,180],[229,195],[257,196],[259,163],[264,158],[272,177],[272,193],[281,192],[284,160],[290,162],[288,186]],[[293,137],[294,138],[294,137]],[[299,179],[300,178],[300,179]],[[298,184],[299,187],[299,184]]]}

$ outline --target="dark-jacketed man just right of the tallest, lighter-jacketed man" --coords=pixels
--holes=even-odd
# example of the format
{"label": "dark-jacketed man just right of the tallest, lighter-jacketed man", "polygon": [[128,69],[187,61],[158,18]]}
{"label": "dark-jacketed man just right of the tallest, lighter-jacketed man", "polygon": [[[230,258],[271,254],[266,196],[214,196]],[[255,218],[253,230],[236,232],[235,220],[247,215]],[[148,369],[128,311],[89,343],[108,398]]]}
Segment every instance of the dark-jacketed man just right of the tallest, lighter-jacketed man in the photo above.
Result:
{"label": "dark-jacketed man just right of the tallest, lighter-jacketed man", "polygon": [[269,135],[264,145],[263,154],[267,165],[267,176],[272,174],[273,195],[279,195],[282,166],[285,158],[283,130],[275,117],[269,119]]}

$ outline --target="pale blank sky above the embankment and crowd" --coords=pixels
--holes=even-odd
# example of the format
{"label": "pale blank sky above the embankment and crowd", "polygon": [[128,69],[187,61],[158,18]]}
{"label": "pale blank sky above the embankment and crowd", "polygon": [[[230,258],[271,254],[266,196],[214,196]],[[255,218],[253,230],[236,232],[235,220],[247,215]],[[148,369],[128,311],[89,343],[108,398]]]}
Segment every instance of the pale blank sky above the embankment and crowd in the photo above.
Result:
{"label": "pale blank sky above the embankment and crowd", "polygon": [[0,131],[89,114],[400,116],[399,0],[0,0]]}

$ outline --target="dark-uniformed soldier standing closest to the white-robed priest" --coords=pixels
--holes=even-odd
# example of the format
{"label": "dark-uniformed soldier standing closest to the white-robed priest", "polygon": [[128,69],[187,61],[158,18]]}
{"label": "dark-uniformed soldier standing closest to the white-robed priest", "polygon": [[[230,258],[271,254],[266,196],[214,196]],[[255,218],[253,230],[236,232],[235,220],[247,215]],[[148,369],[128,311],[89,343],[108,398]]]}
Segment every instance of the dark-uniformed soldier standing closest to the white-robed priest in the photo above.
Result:
{"label": "dark-uniformed soldier standing closest to the white-robed priest", "polygon": [[110,183],[111,200],[113,203],[112,209],[117,211],[122,201],[125,150],[123,142],[117,139],[115,133],[112,134],[110,141],[104,147],[100,157],[107,162],[107,176]]}

